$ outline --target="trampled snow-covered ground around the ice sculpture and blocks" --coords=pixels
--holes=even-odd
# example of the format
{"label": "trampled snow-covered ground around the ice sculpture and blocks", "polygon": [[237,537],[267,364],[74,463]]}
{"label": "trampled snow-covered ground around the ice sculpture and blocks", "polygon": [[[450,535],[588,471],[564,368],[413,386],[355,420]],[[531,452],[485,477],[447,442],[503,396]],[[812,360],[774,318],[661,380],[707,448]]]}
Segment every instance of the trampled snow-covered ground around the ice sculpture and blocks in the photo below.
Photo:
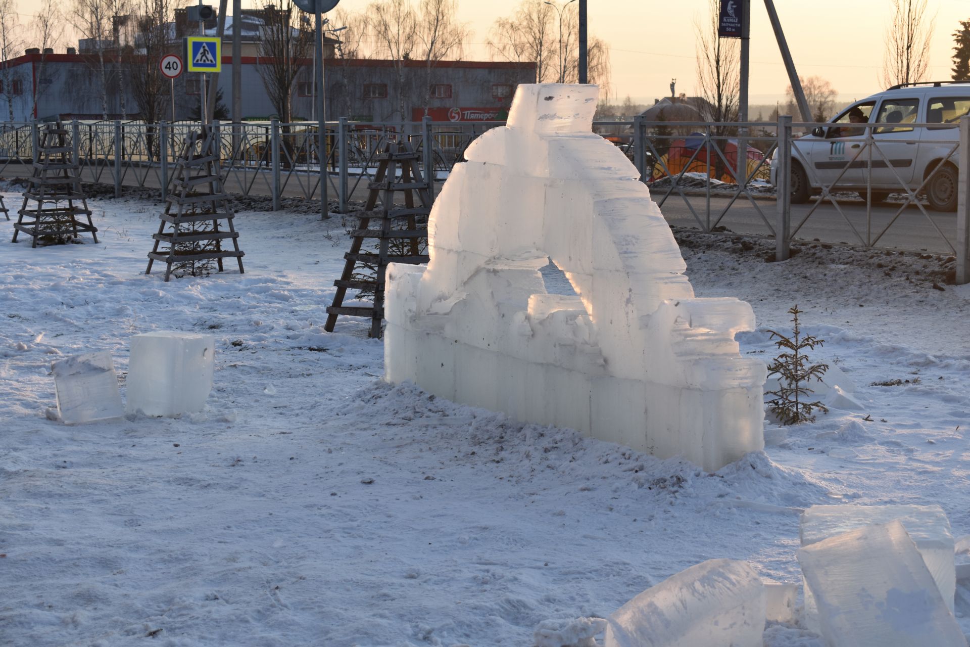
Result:
{"label": "trampled snow-covered ground around the ice sculpture and blocks", "polygon": [[[0,644],[521,647],[709,558],[799,581],[813,503],[939,503],[970,534],[970,291],[934,289],[936,259],[686,239],[698,296],[755,308],[743,352],[797,303],[866,406],[711,474],[381,382],[363,321],[322,329],[336,219],[243,213],[245,275],[166,284],[142,274],[159,207],[92,207],[99,244],[0,220]],[[51,360],[110,350],[123,390],[128,338],[164,329],[215,337],[206,411],[49,420]],[[970,632],[970,589],[956,611]]]}

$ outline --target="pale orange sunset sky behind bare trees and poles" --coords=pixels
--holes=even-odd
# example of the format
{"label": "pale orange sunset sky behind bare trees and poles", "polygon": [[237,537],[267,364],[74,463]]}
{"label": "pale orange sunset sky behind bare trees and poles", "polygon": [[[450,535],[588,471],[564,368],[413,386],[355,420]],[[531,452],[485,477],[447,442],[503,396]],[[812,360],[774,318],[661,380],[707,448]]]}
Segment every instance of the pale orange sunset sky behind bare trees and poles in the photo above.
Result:
{"label": "pale orange sunset sky behind bare trees and poles", "polygon": [[[559,0],[560,4],[562,0]],[[216,0],[208,3],[218,5]],[[467,58],[489,58],[485,40],[498,16],[510,16],[519,0],[459,0],[460,18],[473,30]],[[23,21],[36,0],[18,0]],[[260,6],[261,0],[243,0]],[[349,11],[368,0],[342,0]],[[776,0],[795,65],[803,77],[821,76],[850,101],[881,89],[884,40],[890,0]],[[704,16],[707,0],[589,0],[590,32],[610,46],[613,92],[653,102],[677,91],[695,93],[695,20]],[[968,0],[929,0],[935,16],[930,78],[950,79],[952,34],[960,19],[970,19]],[[752,1],[751,103],[769,104],[784,96],[788,80],[761,0]]]}

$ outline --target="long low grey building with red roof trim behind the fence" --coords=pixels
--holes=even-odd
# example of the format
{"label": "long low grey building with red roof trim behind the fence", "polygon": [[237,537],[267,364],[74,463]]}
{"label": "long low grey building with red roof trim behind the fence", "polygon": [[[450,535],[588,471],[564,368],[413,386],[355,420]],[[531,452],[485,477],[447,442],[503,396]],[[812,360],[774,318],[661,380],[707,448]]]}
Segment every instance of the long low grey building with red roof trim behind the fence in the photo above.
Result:
{"label": "long low grey building with red roof trim behind the fence", "polygon": [[[218,81],[227,106],[232,96],[230,47],[228,42],[223,46],[222,74]],[[258,56],[242,56],[243,118],[277,116],[259,74],[260,64]],[[126,79],[126,67],[109,56],[107,70],[108,117],[139,118],[139,108]],[[166,119],[188,119],[197,113],[200,77],[186,73],[174,82],[175,114],[167,111]],[[312,116],[311,78],[312,62],[307,60],[293,88],[295,120]],[[438,61],[429,68],[424,61],[328,58],[327,118],[411,121],[420,120],[427,113],[436,121],[501,120],[505,118],[516,85],[534,79],[534,63]],[[65,119],[101,119],[100,88],[94,54],[25,53],[0,65],[0,114],[7,120],[8,106],[12,105],[15,121],[55,115]]]}

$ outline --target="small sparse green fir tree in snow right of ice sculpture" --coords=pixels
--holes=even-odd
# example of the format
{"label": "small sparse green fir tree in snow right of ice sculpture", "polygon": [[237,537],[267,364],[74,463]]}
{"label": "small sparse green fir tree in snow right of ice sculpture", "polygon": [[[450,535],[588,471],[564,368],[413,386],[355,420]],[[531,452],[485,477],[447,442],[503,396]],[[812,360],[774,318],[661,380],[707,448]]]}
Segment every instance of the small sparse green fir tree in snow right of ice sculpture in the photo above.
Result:
{"label": "small sparse green fir tree in snow right of ice sculpture", "polygon": [[766,391],[764,395],[774,396],[774,400],[768,401],[768,406],[783,425],[813,422],[814,409],[828,413],[828,409],[821,402],[808,402],[810,394],[815,393],[808,384],[812,378],[821,382],[822,376],[828,371],[828,365],[810,364],[808,356],[802,352],[805,349],[814,350],[816,346],[823,345],[825,340],[820,340],[813,335],[802,336],[798,323],[798,315],[801,312],[797,305],[789,310],[792,315],[792,337],[786,337],[773,330],[768,331],[769,339],[778,338],[775,345],[782,352],[768,365],[768,376],[779,376],[778,390]]}

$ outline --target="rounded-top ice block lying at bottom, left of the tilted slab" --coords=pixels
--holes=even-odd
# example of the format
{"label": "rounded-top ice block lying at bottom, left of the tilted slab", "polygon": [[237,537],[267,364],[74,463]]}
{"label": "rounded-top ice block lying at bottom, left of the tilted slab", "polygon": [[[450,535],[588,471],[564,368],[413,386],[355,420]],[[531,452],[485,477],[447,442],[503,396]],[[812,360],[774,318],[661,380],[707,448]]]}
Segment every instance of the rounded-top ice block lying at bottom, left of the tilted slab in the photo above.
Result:
{"label": "rounded-top ice block lying at bottom, left of the tilted slab", "polygon": [[761,647],[764,585],[747,562],[708,560],[606,619],[604,647]]}

